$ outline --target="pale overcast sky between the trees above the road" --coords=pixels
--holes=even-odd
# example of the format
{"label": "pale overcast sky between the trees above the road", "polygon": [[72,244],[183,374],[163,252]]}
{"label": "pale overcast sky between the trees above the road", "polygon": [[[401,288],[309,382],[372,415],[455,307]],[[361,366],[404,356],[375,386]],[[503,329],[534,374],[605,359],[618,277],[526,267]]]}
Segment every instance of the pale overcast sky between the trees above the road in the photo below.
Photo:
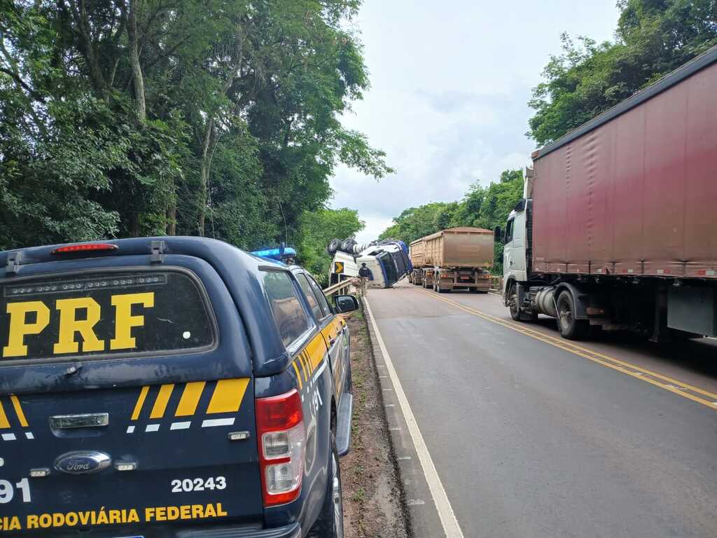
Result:
{"label": "pale overcast sky between the trees above the road", "polygon": [[371,90],[343,118],[386,151],[376,182],[341,167],[331,207],[359,210],[373,240],[407,207],[461,199],[530,162],[531,88],[560,34],[612,39],[615,0],[365,0]]}

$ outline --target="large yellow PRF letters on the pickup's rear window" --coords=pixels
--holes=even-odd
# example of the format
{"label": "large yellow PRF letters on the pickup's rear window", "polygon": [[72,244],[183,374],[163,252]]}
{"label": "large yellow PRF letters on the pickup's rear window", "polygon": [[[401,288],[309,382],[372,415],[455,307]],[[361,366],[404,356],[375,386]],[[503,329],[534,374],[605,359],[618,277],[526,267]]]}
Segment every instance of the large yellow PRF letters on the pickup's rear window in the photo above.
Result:
{"label": "large yellow PRF letters on the pickup's rear window", "polygon": [[[154,292],[125,293],[112,296],[112,306],[115,313],[115,337],[109,342],[109,349],[133,349],[137,346],[132,336],[134,327],[144,325],[144,316],[132,315],[133,305],[144,308],[154,306]],[[102,318],[100,304],[91,297],[72,299],[58,299],[54,305],[57,316],[60,317],[60,329],[57,341],[52,346],[54,354],[87,353],[90,351],[105,351],[107,342],[100,340],[95,334],[95,325]],[[77,318],[77,311],[85,311],[86,316]],[[10,330],[7,345],[2,349],[4,359],[10,357],[27,357],[27,336],[37,336],[49,325],[50,312],[48,306],[42,301],[24,301],[22,303],[8,303],[7,313],[10,318]],[[34,316],[31,316],[34,314]],[[77,335],[82,337],[81,341]]]}

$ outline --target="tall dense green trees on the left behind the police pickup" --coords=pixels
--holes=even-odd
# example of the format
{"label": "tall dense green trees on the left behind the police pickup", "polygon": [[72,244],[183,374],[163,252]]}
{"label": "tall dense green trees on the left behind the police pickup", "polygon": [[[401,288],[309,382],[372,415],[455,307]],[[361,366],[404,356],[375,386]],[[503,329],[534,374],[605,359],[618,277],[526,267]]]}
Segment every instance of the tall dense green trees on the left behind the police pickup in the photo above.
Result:
{"label": "tall dense green trees on the left behind the police pickup", "polygon": [[204,235],[318,267],[317,226],[361,227],[325,209],[336,165],[391,172],[339,121],[360,4],[0,1],[0,250]]}

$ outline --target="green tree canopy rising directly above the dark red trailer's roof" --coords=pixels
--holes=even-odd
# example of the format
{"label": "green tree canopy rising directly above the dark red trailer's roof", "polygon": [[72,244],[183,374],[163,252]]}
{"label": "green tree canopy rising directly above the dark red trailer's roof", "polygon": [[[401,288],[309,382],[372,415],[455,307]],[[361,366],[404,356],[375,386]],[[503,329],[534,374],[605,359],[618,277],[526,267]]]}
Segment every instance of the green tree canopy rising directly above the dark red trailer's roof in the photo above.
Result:
{"label": "green tree canopy rising directly above the dark red trailer's roof", "polygon": [[543,146],[717,44],[715,0],[619,0],[614,42],[563,34],[533,88],[528,136]]}

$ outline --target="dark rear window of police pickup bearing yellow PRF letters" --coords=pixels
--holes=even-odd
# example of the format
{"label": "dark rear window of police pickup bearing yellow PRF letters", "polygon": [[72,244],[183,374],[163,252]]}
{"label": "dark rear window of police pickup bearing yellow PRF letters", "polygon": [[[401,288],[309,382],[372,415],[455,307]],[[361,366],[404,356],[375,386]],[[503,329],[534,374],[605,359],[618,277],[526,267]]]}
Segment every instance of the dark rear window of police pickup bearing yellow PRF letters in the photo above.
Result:
{"label": "dark rear window of police pickup bearing yellow PRF letters", "polygon": [[62,275],[1,285],[0,362],[187,351],[214,341],[205,293],[184,272]]}

